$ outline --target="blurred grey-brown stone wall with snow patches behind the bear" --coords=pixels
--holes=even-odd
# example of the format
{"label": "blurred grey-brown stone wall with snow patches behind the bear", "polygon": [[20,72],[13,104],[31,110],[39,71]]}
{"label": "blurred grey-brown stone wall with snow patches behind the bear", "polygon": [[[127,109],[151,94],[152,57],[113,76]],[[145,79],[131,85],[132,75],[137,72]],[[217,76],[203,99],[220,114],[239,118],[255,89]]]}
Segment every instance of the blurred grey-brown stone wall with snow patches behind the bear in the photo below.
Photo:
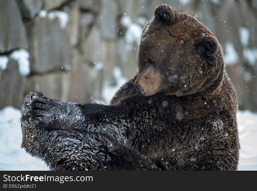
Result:
{"label": "blurred grey-brown stone wall with snow patches behind the bear", "polygon": [[257,111],[257,0],[1,0],[0,109],[35,90],[107,103],[137,72],[140,34],[162,3],[210,28],[239,109]]}

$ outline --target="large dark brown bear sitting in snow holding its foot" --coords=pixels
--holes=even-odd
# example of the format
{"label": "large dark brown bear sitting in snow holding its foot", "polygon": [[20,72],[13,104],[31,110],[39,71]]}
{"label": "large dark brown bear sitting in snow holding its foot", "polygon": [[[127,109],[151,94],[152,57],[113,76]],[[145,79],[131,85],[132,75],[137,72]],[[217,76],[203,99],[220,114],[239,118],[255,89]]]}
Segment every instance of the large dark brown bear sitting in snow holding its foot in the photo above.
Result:
{"label": "large dark brown bear sitting in snow holding its foot", "polygon": [[215,36],[160,5],[110,105],[30,93],[22,147],[53,170],[236,170],[237,96]]}

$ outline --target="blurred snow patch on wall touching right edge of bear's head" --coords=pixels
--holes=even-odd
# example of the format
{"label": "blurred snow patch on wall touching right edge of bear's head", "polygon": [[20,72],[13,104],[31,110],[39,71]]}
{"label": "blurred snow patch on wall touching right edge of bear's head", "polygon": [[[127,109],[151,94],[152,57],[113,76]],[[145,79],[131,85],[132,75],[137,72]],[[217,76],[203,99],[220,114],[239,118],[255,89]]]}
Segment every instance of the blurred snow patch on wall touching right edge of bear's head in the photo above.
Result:
{"label": "blurred snow patch on wall touching right edge of bear's head", "polygon": [[226,42],[223,57],[226,65],[233,65],[238,62],[238,54],[231,42]]}

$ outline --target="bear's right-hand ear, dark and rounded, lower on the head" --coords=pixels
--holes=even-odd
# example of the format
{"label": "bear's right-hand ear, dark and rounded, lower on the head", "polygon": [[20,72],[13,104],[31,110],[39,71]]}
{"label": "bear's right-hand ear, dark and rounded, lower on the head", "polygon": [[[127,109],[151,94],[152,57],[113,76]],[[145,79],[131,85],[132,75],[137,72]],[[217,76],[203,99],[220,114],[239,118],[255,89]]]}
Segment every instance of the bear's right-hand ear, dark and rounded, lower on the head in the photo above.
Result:
{"label": "bear's right-hand ear, dark and rounded, lower on the head", "polygon": [[202,36],[197,41],[197,50],[205,58],[212,58],[218,51],[218,41],[212,36]]}

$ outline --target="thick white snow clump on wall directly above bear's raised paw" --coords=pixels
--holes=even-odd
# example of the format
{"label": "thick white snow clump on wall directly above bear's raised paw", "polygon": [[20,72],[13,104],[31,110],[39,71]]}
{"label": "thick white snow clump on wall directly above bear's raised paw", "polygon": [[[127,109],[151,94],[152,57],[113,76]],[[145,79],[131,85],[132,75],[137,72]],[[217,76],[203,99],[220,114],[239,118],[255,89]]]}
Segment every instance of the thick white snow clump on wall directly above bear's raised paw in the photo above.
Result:
{"label": "thick white snow clump on wall directly above bear's raised paw", "polygon": [[17,61],[19,66],[19,72],[23,76],[27,76],[30,73],[29,68],[29,52],[25,49],[18,49],[13,51],[9,58]]}

